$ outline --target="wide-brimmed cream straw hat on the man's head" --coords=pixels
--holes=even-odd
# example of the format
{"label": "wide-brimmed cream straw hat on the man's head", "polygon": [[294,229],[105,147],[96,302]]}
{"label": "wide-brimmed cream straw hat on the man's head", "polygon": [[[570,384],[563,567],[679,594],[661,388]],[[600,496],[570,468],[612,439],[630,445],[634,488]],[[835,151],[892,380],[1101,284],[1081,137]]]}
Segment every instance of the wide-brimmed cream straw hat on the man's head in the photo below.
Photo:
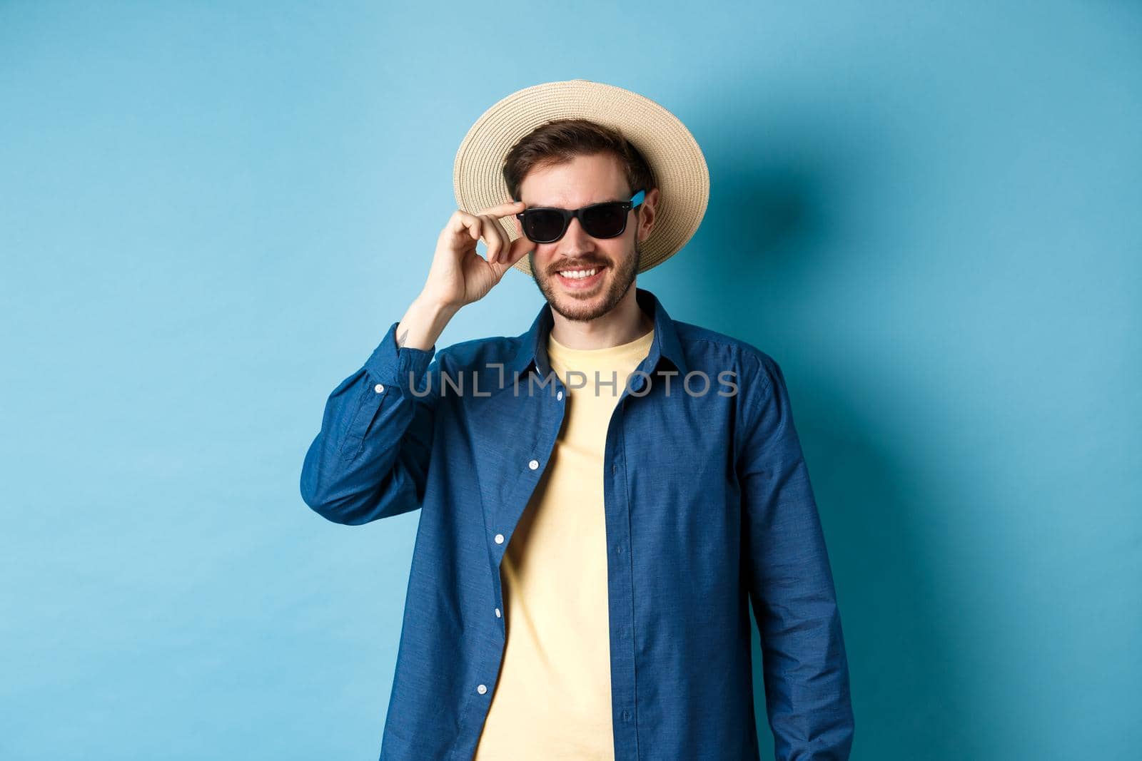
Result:
{"label": "wide-brimmed cream straw hat on the man's head", "polygon": [[[677,116],[637,92],[602,82],[576,79],[536,84],[485,111],[456,152],[452,185],[459,209],[476,213],[509,201],[505,156],[531,130],[554,119],[589,119],[619,130],[638,148],[654,175],[659,203],[654,227],[642,243],[637,272],[677,253],[706,213],[710,185],[706,157]],[[518,237],[512,217],[499,224],[509,240]],[[528,257],[514,267],[531,275]]]}

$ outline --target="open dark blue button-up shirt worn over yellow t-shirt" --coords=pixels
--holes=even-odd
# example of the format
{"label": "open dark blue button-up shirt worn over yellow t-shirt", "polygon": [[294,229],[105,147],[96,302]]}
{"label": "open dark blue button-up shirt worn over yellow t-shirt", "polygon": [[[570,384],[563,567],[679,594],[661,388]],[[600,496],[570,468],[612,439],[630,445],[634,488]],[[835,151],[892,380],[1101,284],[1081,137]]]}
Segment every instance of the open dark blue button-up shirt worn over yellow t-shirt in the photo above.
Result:
{"label": "open dark blue button-up shirt worn over yellow t-shirt", "polygon": [[[601,473],[614,758],[758,758],[751,601],[777,758],[847,759],[841,616],[781,370],[636,296],[654,338]],[[301,496],[348,525],[420,509],[380,759],[472,759],[504,656],[500,561],[568,387],[547,303],[522,335],[439,353],[397,347],[396,327],[329,395]]]}

